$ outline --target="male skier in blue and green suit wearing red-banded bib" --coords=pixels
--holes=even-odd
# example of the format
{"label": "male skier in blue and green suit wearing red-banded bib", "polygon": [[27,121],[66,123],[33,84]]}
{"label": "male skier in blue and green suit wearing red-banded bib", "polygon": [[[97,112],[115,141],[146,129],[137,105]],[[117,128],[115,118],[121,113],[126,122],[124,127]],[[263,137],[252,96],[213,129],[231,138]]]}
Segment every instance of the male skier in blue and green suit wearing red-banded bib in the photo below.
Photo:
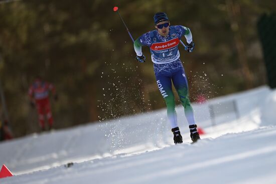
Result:
{"label": "male skier in blue and green suit wearing red-banded bib", "polygon": [[167,15],[162,12],[154,15],[154,23],[156,30],[143,34],[134,42],[136,60],[141,63],[145,62],[146,57],[142,53],[142,46],[150,47],[157,85],[167,105],[167,115],[174,134],[174,142],[177,144],[183,141],[177,122],[172,82],[184,107],[191,139],[196,142],[200,137],[189,99],[187,77],[178,51],[178,44],[183,35],[187,40],[186,50],[193,51],[195,44],[192,40],[192,33],[184,26],[170,26]]}

